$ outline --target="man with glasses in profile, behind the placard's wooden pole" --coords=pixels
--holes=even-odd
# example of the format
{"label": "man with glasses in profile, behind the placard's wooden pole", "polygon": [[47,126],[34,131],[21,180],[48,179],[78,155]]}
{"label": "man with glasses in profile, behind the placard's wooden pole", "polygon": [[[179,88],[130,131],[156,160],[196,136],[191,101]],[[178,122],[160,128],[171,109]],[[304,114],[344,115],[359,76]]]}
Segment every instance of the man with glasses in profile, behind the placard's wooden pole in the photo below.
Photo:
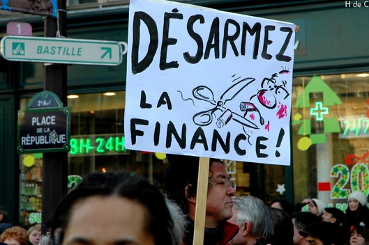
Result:
{"label": "man with glasses in profile, behind the placard's wooden pole", "polygon": [[186,214],[183,245],[193,244],[197,195],[207,195],[204,245],[225,245],[236,235],[238,226],[227,222],[232,217],[234,184],[220,159],[210,159],[207,193],[197,193],[199,157],[167,154],[170,166],[165,171],[167,198],[174,200]]}

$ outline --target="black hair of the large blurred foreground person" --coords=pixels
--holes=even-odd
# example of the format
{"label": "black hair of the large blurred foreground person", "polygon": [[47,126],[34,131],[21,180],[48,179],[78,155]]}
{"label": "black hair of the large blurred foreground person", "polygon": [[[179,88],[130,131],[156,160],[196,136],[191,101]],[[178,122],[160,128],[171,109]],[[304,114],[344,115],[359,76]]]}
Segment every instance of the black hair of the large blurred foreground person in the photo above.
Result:
{"label": "black hair of the large blurred foreground person", "polygon": [[[146,228],[155,244],[174,244],[173,220],[163,194],[143,177],[132,176],[126,171],[91,173],[59,203],[51,222],[53,241],[57,228],[61,228],[59,243],[63,242],[63,232],[68,226],[73,205],[90,196],[117,195],[141,203],[147,210]],[[119,212],[119,210],[117,210]],[[55,242],[54,242],[55,244]]]}

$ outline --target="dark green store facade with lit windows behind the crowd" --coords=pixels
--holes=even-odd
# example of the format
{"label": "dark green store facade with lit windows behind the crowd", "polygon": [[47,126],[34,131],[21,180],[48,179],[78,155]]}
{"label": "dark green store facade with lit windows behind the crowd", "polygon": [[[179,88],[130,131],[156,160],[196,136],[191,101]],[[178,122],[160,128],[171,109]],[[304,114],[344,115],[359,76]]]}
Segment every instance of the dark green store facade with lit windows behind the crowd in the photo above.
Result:
{"label": "dark green store facade with lit windows behind the crowd", "polygon": [[[126,47],[127,6],[77,10],[84,3],[69,4],[68,38],[115,40]],[[368,195],[369,8],[345,6],[345,1],[253,3],[234,8],[207,1],[206,6],[300,27],[292,85],[291,166],[225,160],[237,195],[250,194],[266,203],[275,198],[291,203],[319,198],[342,210],[349,191]],[[32,24],[33,35],[43,35],[41,17],[28,16],[22,22]],[[2,36],[6,34],[5,20],[0,30]],[[13,221],[40,223],[43,155],[17,155],[16,119],[17,111],[43,90],[43,64],[0,62],[4,118],[0,124],[0,205],[9,207]],[[125,83],[125,52],[117,67],[68,65],[66,106],[72,111],[68,188],[86,173],[118,169],[143,175],[163,188],[165,155],[124,148]]]}

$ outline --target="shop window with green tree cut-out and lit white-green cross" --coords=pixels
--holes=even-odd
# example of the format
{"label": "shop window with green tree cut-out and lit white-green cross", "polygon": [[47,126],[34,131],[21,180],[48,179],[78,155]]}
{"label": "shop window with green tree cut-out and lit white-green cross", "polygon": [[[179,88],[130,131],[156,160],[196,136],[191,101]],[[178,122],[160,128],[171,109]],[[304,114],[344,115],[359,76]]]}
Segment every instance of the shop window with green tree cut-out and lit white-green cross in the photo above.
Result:
{"label": "shop window with green tree cut-out and lit white-green cross", "polygon": [[345,210],[369,193],[369,74],[296,77],[292,91],[294,198]]}

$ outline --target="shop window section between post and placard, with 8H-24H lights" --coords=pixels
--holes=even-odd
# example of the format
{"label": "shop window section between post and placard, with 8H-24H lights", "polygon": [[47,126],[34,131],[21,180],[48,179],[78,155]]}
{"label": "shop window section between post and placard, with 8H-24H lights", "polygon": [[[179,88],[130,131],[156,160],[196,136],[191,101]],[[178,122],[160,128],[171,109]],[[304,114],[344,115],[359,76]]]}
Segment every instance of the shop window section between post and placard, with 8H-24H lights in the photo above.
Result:
{"label": "shop window section between post and placard, with 8H-24H lights", "polygon": [[68,106],[72,111],[68,175],[124,169],[163,187],[165,159],[124,148],[124,91],[79,94],[68,98]]}

